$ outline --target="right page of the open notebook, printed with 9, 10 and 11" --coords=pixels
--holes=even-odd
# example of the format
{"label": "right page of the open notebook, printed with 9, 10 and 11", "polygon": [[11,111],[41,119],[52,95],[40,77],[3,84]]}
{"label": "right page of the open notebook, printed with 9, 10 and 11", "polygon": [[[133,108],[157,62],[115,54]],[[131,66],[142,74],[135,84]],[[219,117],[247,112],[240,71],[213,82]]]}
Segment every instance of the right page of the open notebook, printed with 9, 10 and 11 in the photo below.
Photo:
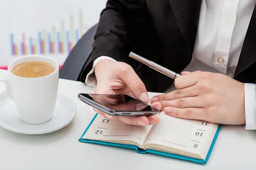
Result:
{"label": "right page of the open notebook, printed with 9, 10 and 11", "polygon": [[160,144],[199,154],[216,124],[198,120],[179,119],[161,112],[160,123],[154,125],[144,145]]}

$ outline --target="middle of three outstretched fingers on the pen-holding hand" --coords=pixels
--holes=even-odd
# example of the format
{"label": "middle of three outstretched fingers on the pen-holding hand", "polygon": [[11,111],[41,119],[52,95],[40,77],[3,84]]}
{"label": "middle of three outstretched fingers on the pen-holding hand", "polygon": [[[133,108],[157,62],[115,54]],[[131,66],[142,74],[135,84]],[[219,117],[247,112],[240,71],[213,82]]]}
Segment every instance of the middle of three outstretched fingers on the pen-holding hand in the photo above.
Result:
{"label": "middle of three outstretched fingers on the pen-holding hand", "polygon": [[160,107],[160,111],[163,111],[166,107],[175,107],[175,108],[202,108],[204,101],[200,97],[184,97],[176,100],[163,100],[154,102],[152,106]]}

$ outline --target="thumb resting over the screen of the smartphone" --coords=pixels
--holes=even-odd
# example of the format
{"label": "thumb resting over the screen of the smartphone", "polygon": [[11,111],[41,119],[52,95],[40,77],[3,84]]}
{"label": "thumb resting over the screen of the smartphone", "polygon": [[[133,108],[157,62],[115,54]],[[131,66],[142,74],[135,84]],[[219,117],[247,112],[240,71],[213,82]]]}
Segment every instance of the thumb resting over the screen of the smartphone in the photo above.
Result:
{"label": "thumb resting over the screen of the smartphone", "polygon": [[121,74],[121,76],[122,80],[131,90],[131,93],[135,96],[136,99],[139,99],[145,103],[149,102],[149,97],[145,85],[132,68],[129,67],[124,74]]}

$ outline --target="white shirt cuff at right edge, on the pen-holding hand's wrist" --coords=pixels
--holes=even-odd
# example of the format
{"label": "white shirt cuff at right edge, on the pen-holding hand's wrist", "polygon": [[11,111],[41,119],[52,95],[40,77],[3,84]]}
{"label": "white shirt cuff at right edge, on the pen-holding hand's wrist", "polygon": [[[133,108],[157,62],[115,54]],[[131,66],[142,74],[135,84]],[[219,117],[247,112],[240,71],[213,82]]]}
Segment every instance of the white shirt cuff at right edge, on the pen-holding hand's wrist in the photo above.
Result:
{"label": "white shirt cuff at right edge, on the pen-holding hand's wrist", "polygon": [[244,83],[245,129],[256,130],[256,84]]}

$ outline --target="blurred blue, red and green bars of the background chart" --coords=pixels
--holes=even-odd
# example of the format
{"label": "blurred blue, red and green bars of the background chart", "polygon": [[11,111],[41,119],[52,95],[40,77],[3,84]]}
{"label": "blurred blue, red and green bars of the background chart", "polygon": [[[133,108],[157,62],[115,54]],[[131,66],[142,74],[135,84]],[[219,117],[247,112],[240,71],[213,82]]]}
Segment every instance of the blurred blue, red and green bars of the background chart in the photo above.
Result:
{"label": "blurred blue, red and green bars of the background chart", "polygon": [[[61,20],[59,30],[52,26],[51,30],[43,28],[38,31],[37,36],[27,36],[25,32],[19,35],[21,42],[15,42],[15,34],[10,34],[11,54],[63,54],[69,53],[74,45],[83,35],[83,15],[82,10],[78,12],[78,26],[74,26],[74,17],[70,15],[69,23]],[[67,25],[68,27],[65,27]],[[26,41],[28,40],[28,41]]]}

